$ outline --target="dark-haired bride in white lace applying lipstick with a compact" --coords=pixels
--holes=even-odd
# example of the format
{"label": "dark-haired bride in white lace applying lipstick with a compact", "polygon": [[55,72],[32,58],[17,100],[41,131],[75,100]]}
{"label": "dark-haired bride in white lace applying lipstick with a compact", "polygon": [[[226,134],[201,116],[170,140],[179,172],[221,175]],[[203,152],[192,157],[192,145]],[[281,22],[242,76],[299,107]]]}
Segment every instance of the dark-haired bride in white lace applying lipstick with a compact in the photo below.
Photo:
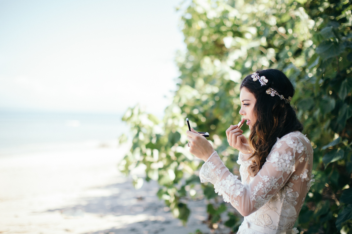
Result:
{"label": "dark-haired bride in white lace applying lipstick with a compact", "polygon": [[187,131],[190,153],[205,161],[199,176],[244,216],[237,234],[298,233],[295,221],[314,182],[313,149],[290,105],[294,87],[276,69],[246,76],[240,86],[239,114],[249,139],[237,125],[226,130],[239,150],[241,180],[233,175],[208,140]]}

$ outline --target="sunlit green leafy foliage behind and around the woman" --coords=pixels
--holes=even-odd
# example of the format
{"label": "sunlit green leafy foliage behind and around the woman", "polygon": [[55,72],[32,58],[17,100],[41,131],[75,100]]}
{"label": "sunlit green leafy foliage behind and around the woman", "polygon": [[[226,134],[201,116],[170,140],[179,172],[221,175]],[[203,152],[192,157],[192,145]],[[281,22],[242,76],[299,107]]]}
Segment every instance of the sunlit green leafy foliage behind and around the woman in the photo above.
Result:
{"label": "sunlit green leafy foliage behind and around the woman", "polygon": [[[304,233],[351,233],[351,9],[351,0],[193,0],[182,16],[187,53],[176,58],[181,75],[174,100],[163,120],[138,106],[128,109],[123,120],[131,125],[133,145],[120,170],[144,166],[146,180],[158,181],[159,198],[184,223],[187,200],[204,197],[209,222],[220,222],[226,209],[219,208],[225,205],[213,186],[196,189],[202,163],[188,151],[185,118],[209,132],[225,165],[238,174],[238,152],[228,146],[225,130],[240,120],[240,81],[257,69],[277,68],[296,88],[291,104],[314,149],[315,184],[295,226]],[[247,126],[243,130],[249,134]],[[236,230],[234,217],[226,223]]]}

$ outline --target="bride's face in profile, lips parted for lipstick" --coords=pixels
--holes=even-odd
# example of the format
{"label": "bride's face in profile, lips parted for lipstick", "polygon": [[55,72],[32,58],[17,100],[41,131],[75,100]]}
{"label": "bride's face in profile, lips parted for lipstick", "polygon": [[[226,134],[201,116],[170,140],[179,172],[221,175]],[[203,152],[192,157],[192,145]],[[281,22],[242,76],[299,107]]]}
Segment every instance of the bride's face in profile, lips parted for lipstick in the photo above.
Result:
{"label": "bride's face in profile, lips parted for lipstick", "polygon": [[254,117],[253,108],[256,104],[257,99],[254,98],[254,95],[249,92],[246,87],[241,88],[240,92],[240,101],[241,101],[241,109],[240,115],[243,115],[244,119],[247,120],[247,125],[249,129],[252,129],[254,123],[256,122],[256,118]]}

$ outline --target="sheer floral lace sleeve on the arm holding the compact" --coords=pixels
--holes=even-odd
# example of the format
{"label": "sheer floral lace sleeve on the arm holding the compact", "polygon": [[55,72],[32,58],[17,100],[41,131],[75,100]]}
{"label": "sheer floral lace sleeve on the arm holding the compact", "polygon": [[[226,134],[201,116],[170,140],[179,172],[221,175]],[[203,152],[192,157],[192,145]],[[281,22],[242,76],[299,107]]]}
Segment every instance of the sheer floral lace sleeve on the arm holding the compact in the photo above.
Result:
{"label": "sheer floral lace sleeve on the arm holding the compact", "polygon": [[203,164],[200,179],[201,182],[212,183],[215,192],[222,195],[225,202],[230,202],[241,215],[247,216],[262,207],[285,185],[295,172],[296,159],[306,149],[301,139],[295,136],[278,140],[262,169],[249,183],[241,183],[214,152]]}

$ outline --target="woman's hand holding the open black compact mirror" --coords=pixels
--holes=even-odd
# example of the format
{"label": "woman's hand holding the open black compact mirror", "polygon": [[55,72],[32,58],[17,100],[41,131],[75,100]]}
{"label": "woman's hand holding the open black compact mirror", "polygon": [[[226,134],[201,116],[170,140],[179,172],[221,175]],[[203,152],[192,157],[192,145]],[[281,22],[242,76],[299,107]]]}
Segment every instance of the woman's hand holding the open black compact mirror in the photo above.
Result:
{"label": "woman's hand holding the open black compact mirror", "polygon": [[191,131],[186,131],[187,139],[189,140],[189,152],[203,161],[207,161],[210,155],[215,152],[213,146],[210,142],[201,134],[194,131],[191,128]]}

